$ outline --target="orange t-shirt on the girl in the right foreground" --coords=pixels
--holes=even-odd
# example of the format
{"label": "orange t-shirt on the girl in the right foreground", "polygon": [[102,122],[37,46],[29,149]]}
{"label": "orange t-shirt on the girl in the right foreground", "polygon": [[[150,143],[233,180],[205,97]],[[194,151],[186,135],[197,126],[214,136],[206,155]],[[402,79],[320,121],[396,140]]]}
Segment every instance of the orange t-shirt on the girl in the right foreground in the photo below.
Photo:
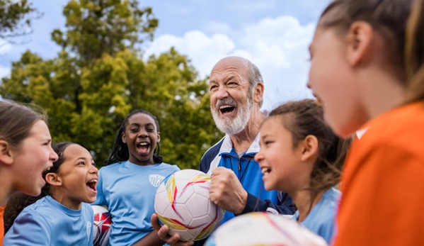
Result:
{"label": "orange t-shirt on the girl in the right foreground", "polygon": [[333,245],[424,245],[424,104],[366,126],[343,169]]}

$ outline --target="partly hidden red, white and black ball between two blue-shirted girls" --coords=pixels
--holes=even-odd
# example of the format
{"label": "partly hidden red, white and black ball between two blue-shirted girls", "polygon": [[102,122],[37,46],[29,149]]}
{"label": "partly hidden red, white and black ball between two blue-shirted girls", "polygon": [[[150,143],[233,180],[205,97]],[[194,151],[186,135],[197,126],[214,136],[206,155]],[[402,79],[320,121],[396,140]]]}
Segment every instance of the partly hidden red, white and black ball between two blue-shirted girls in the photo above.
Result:
{"label": "partly hidden red, white and black ball between two blue-shirted girls", "polygon": [[93,245],[108,245],[112,217],[103,206],[91,205],[91,208],[93,208],[94,212]]}

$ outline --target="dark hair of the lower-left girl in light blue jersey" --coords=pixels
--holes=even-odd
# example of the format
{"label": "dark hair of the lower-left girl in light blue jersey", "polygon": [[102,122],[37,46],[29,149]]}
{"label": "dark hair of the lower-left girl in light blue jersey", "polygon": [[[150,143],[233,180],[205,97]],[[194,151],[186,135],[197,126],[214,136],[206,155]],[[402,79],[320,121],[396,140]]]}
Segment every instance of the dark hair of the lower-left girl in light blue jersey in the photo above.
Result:
{"label": "dark hair of the lower-left girl in light blue jersey", "polygon": [[[64,150],[69,145],[74,145],[74,142],[58,142],[52,145],[52,149],[55,150],[58,158],[56,162],[53,162],[53,167],[42,173],[42,178],[45,179],[48,173],[57,173],[60,165],[64,162]],[[8,200],[6,208],[4,209],[4,233],[7,233],[8,229],[13,225],[13,221],[18,217],[18,214],[23,211],[23,208],[30,206],[39,199],[50,195],[50,184],[45,183],[45,186],[41,189],[41,194],[38,196],[30,196],[23,193],[16,193],[11,196]]]}

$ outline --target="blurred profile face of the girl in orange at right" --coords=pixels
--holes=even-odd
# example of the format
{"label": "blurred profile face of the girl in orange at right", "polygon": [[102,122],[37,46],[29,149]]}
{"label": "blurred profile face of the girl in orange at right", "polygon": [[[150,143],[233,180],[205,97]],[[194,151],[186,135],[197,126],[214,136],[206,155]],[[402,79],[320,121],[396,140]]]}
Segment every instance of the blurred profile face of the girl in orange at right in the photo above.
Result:
{"label": "blurred profile face of the girl in orange at right", "polygon": [[308,87],[323,104],[324,118],[334,132],[347,137],[366,122],[359,71],[350,66],[348,46],[333,28],[318,28],[309,47]]}

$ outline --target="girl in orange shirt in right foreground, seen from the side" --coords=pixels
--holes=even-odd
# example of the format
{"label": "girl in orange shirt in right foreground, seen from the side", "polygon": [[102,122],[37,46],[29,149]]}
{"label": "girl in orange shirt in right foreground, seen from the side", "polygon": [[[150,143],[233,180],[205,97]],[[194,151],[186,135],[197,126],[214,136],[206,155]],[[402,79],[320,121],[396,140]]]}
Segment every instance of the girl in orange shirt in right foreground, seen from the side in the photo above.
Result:
{"label": "girl in orange shirt in right foreground, seen from the side", "polygon": [[424,245],[423,106],[399,107],[410,9],[411,0],[335,0],[310,46],[308,85],[326,121],[343,137],[365,131],[343,169],[337,246]]}

